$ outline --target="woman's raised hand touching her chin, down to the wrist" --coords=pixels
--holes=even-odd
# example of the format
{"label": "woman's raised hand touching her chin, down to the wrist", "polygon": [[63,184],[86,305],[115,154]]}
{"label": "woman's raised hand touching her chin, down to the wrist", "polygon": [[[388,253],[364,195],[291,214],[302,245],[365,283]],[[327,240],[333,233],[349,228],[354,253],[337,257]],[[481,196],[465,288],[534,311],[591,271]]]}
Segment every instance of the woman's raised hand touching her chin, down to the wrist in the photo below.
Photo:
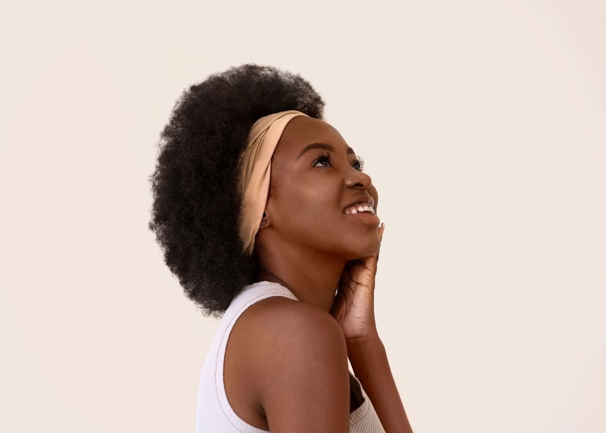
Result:
{"label": "woman's raised hand touching her chin, down to the wrist", "polygon": [[[383,239],[385,224],[378,227]],[[330,314],[341,325],[347,343],[378,337],[375,323],[375,275],[379,250],[373,255],[348,261],[341,274]]]}

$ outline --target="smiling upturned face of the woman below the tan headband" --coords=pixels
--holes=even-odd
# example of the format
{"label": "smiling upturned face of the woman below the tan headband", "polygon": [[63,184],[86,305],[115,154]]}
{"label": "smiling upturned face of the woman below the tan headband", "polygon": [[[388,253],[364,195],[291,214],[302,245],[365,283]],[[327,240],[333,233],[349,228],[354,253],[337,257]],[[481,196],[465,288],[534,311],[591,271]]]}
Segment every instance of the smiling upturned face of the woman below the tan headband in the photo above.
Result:
{"label": "smiling upturned face of the woman below the tan headband", "polygon": [[297,116],[272,158],[265,206],[270,224],[258,235],[281,249],[316,250],[344,260],[367,257],[380,246],[379,217],[345,209],[368,201],[376,210],[378,200],[370,176],[341,134],[324,121]]}

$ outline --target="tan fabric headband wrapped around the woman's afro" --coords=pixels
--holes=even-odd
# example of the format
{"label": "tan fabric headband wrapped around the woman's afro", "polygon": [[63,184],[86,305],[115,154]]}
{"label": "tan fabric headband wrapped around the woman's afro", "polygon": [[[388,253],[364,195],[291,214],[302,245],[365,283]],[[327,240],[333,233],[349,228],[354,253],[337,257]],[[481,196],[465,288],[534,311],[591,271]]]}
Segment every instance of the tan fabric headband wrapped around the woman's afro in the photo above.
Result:
{"label": "tan fabric headband wrapped around the woman's afro", "polygon": [[248,132],[246,150],[238,164],[241,175],[239,187],[244,192],[239,232],[244,251],[249,256],[253,253],[255,235],[267,204],[271,156],[288,122],[296,116],[307,115],[297,110],[273,113],[259,118]]}

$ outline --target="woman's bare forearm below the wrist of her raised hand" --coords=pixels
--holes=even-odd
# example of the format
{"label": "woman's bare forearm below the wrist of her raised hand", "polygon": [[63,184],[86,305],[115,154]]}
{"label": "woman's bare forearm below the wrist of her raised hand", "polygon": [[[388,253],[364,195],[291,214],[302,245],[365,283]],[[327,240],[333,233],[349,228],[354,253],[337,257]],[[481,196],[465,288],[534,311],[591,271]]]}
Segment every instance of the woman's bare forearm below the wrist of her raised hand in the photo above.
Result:
{"label": "woman's bare forearm below the wrist of her raised hand", "polygon": [[381,339],[376,336],[365,341],[348,341],[347,356],[385,432],[413,433]]}

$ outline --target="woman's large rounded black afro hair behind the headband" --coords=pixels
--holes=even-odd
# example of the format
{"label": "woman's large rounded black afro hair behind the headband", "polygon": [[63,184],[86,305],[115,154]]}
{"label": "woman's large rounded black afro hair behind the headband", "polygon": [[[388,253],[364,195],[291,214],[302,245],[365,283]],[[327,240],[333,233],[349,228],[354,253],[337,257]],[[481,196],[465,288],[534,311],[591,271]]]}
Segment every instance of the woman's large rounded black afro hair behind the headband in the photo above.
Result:
{"label": "woman's large rounded black afro hair behind the headband", "polygon": [[253,123],[284,110],[323,119],[324,101],[298,74],[248,63],[184,90],[160,133],[148,228],[204,315],[220,318],[258,272],[239,237],[237,164]]}

